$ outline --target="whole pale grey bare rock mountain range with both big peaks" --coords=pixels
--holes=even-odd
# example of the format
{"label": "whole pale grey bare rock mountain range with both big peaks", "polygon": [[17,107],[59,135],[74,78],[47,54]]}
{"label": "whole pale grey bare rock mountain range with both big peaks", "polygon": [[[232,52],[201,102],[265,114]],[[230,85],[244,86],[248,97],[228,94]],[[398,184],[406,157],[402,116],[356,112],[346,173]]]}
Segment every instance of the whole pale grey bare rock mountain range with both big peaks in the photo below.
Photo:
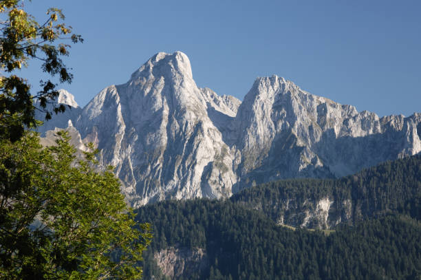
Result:
{"label": "whole pale grey bare rock mountain range with both big peaks", "polygon": [[287,177],[338,177],[421,151],[421,114],[379,118],[278,76],[257,78],[241,103],[198,88],[182,52],[156,54],[83,109],[65,91],[58,102],[73,109],[40,132],[72,120],[100,162],[116,166],[135,207],[229,197]]}

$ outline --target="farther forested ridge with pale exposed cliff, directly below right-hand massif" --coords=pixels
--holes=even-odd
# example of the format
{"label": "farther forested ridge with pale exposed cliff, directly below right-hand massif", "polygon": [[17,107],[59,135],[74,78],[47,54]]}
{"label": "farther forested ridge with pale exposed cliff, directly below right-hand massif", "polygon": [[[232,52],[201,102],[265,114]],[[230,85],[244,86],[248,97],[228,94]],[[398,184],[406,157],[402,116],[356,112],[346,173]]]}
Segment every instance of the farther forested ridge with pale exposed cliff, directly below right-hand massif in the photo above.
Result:
{"label": "farther forested ridge with pale exposed cliff, directly below right-hand massif", "polygon": [[354,224],[385,213],[420,219],[421,155],[384,162],[338,180],[270,182],[244,189],[230,200],[263,211],[279,224],[307,228]]}

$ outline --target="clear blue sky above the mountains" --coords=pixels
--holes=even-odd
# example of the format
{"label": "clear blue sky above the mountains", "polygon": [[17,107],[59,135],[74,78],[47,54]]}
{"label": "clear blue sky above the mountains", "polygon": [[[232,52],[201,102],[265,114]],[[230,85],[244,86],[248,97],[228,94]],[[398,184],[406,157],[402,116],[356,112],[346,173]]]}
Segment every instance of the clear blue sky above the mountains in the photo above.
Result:
{"label": "clear blue sky above the mountains", "polygon": [[[421,1],[25,0],[40,22],[61,8],[81,34],[59,85],[80,106],[129,80],[153,54],[184,52],[199,87],[243,100],[255,78],[379,116],[421,112]],[[39,65],[23,75],[36,91]]]}

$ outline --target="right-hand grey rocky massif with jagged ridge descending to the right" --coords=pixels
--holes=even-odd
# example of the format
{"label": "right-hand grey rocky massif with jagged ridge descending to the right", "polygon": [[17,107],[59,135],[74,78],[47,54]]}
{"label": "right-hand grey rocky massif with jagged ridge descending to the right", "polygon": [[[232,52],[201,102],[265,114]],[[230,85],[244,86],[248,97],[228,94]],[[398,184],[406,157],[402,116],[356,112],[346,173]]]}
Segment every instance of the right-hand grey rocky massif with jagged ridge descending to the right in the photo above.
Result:
{"label": "right-hand grey rocky massif with jagged ridge descending to the right", "polygon": [[[235,119],[241,180],[341,177],[421,151],[421,114],[379,118],[272,76],[257,78]],[[244,186],[244,184],[239,184]]]}

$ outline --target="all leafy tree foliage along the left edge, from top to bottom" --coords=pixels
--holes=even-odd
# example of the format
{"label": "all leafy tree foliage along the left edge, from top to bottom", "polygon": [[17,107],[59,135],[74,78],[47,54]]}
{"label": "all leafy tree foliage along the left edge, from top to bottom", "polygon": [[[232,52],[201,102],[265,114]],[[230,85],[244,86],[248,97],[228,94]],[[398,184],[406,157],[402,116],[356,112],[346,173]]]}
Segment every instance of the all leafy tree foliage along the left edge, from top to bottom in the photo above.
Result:
{"label": "all leafy tree foliage along the left edge, from top to bottom", "polygon": [[39,24],[23,8],[21,0],[0,0],[0,279],[138,279],[149,225],[134,222],[113,168],[101,171],[92,145],[76,157],[58,133],[55,146],[41,147],[29,130],[40,123],[35,110],[49,119],[65,107],[53,104],[52,80],[32,95],[16,75],[40,59],[43,72],[70,83],[61,60],[69,45],[57,41],[82,39],[61,10],[47,10]]}

